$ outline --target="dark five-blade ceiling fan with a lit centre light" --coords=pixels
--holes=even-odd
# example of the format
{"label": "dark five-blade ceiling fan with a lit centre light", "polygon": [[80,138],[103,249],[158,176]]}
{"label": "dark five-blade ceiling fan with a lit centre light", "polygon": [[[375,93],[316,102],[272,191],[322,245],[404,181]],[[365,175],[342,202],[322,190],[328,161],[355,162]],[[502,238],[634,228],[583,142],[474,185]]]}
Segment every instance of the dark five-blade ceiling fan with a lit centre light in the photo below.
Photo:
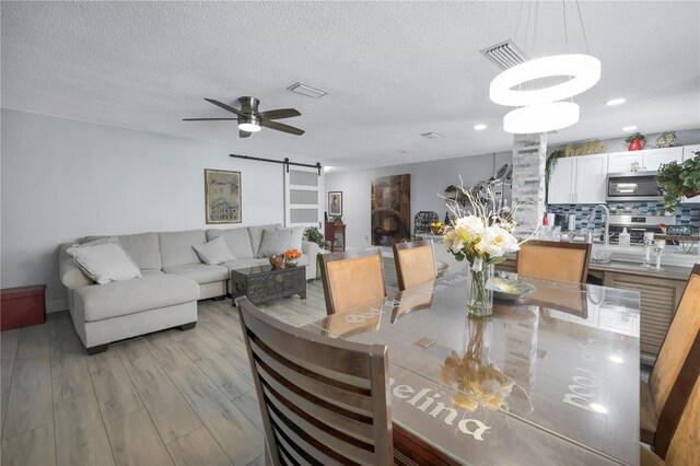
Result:
{"label": "dark five-blade ceiling fan with a lit centre light", "polygon": [[301,114],[294,108],[278,108],[276,110],[258,112],[258,104],[260,101],[248,96],[238,98],[241,109],[234,108],[222,102],[214,101],[213,98],[205,98],[205,101],[235,114],[236,118],[183,118],[183,121],[237,120],[240,138],[247,138],[252,132],[257,132],[262,129],[262,127],[296,136],[302,136],[304,133],[303,129],[273,121],[276,119],[300,116]]}

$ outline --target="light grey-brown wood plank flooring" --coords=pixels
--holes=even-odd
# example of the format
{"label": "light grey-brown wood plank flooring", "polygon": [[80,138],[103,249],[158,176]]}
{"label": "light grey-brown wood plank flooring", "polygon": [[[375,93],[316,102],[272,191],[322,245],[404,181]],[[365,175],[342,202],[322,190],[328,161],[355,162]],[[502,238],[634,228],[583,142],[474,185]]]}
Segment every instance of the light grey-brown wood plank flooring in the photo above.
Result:
{"label": "light grey-brown wood plank flooring", "polygon": [[[396,289],[385,259],[387,293]],[[265,439],[231,299],[202,301],[191,330],[88,356],[68,312],[0,334],[2,465],[262,465]],[[265,312],[292,325],[326,315],[323,286]]]}

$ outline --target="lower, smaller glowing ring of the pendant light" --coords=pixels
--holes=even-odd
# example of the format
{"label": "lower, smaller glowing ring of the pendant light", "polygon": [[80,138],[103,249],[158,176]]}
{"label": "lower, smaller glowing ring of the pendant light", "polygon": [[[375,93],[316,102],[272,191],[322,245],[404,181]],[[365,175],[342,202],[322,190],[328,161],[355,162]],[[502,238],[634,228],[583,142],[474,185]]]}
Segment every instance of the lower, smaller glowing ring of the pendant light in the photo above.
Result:
{"label": "lower, smaller glowing ring of the pendant light", "polygon": [[514,135],[553,131],[579,121],[579,105],[572,102],[529,105],[509,112],[503,117],[503,129]]}

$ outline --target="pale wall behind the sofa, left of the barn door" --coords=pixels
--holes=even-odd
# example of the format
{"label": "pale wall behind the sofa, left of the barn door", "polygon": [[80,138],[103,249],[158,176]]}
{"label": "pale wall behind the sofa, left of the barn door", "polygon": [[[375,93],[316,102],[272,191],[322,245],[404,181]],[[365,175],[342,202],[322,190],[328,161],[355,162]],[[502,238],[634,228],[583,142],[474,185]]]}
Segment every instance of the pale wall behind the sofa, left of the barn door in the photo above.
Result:
{"label": "pale wall behind the sofa, left of the barn door", "polygon": [[[283,165],[296,154],[2,109],[2,288],[47,284],[66,308],[58,245],[86,235],[283,222]],[[254,136],[255,138],[255,136]],[[323,161],[320,161],[323,163]],[[240,171],[243,223],[205,223],[203,170]]]}

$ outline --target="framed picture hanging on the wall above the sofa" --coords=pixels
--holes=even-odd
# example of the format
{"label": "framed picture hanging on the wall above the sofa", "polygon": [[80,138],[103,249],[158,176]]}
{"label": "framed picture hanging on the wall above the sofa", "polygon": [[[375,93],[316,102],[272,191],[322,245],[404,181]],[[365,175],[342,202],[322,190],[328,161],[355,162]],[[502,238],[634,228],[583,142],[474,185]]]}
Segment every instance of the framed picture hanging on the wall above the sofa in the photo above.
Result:
{"label": "framed picture hanging on the wall above the sofa", "polygon": [[205,168],[207,223],[241,223],[241,172]]}

